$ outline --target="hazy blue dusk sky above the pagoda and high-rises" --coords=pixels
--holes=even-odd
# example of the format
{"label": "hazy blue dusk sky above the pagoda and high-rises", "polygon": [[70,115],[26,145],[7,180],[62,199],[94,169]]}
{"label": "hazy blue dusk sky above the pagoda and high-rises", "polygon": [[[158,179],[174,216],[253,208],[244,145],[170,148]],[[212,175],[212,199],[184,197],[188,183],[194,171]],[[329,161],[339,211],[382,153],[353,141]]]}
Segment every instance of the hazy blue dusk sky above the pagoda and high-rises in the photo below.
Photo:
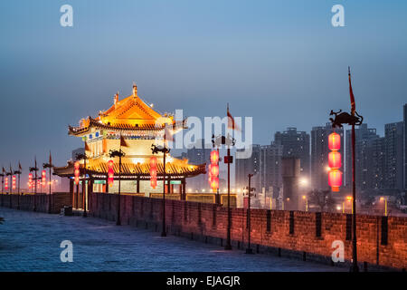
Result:
{"label": "hazy blue dusk sky above the pagoda and high-rises", "polygon": [[[73,7],[73,27],[60,7]],[[331,7],[345,7],[345,27]],[[115,92],[159,111],[252,116],[254,142],[310,131],[330,109],[357,111],[383,134],[407,102],[406,1],[0,2],[0,166],[49,150],[59,166],[82,145],[68,124],[108,109]]]}

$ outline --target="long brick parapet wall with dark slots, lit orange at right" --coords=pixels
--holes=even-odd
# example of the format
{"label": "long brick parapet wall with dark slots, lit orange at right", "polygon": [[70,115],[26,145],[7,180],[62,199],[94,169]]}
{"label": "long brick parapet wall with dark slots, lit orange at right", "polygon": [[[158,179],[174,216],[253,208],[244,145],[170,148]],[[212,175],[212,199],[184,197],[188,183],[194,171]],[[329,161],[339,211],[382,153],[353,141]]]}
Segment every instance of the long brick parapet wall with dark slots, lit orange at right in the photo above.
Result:
{"label": "long brick parapet wall with dark slots, lit orange at right", "polygon": [[[19,199],[18,199],[19,198]],[[33,195],[0,195],[0,206],[33,210]],[[71,205],[69,193],[52,194],[52,213]],[[90,216],[116,220],[118,195],[91,193]],[[47,212],[49,196],[37,194],[36,210]],[[161,231],[162,199],[133,195],[120,197],[123,225]],[[247,209],[232,208],[232,246],[245,248],[248,242]],[[345,261],[352,257],[351,215],[303,211],[251,209],[251,245],[256,252],[300,256],[305,260],[331,263],[332,243],[343,241]],[[168,233],[224,246],[227,208],[216,204],[166,199]],[[407,267],[407,218],[357,216],[357,254],[360,263],[371,266]]]}

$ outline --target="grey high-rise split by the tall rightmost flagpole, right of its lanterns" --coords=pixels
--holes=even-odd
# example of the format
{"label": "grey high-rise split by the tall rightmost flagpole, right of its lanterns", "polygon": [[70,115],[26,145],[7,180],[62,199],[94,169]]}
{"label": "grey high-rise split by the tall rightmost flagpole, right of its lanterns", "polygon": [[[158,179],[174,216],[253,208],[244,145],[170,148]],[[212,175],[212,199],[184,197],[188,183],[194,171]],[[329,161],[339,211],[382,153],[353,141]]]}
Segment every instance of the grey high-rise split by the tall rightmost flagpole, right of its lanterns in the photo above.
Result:
{"label": "grey high-rise split by the tall rightmost flagpole, right of its lanterns", "polygon": [[[352,131],[346,130],[345,138],[345,186],[352,186]],[[374,128],[368,128],[362,124],[355,128],[355,170],[356,188],[360,190],[373,189],[374,175],[370,160],[369,148],[372,141],[378,139]]]}

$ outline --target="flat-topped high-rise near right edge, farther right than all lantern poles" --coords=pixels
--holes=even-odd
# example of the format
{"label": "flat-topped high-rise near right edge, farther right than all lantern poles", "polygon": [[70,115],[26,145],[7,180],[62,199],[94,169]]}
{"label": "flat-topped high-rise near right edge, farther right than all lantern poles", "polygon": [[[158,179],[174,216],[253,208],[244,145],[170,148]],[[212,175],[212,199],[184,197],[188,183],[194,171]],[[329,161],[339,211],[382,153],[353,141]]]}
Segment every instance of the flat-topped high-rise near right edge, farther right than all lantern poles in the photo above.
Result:
{"label": "flat-topped high-rise near right edge, farther right than all lantern poles", "polygon": [[393,191],[402,191],[403,184],[403,122],[384,125],[385,142],[385,187]]}

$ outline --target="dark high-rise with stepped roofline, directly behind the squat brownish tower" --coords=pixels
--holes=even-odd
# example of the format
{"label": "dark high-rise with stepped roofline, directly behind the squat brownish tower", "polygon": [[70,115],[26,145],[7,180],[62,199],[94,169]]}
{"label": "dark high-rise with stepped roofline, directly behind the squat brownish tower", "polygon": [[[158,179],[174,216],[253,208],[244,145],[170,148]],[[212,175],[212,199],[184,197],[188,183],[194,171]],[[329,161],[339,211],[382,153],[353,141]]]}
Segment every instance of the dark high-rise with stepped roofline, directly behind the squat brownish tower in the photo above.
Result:
{"label": "dark high-rise with stepped roofline, directly behind the squat brownish tower", "polygon": [[288,128],[287,131],[276,132],[274,142],[283,146],[282,157],[300,160],[300,174],[309,178],[309,134],[297,131],[297,128]]}

